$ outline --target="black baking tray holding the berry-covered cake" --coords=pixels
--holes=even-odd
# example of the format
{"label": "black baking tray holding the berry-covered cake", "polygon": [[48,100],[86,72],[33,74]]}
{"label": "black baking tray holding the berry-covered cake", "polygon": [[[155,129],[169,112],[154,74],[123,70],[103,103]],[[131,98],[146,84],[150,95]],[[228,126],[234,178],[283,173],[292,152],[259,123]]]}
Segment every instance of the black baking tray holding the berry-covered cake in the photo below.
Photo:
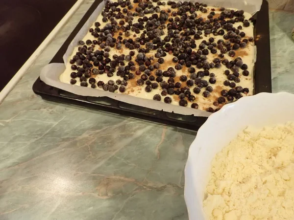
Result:
{"label": "black baking tray holding the berry-covered cake", "polygon": [[[74,28],[71,35],[61,46],[50,63],[63,63],[62,57],[65,54],[69,44],[72,42],[74,36],[78,33],[78,31],[88,20],[101,1],[102,0],[94,1],[92,6]],[[257,12],[254,17],[256,18],[254,35],[256,39],[255,44],[257,46],[257,57],[254,70],[254,93],[257,94],[260,92],[271,92],[269,4],[266,0],[263,0],[260,11]],[[130,105],[108,97],[76,95],[59,88],[51,87],[42,82],[40,78],[38,78],[34,83],[33,91],[37,95],[40,95],[43,99],[49,101],[122,114],[129,117],[149,120],[160,124],[167,124],[194,131],[197,131],[207,120],[206,117],[181,115],[165,112],[163,110],[152,110]]]}

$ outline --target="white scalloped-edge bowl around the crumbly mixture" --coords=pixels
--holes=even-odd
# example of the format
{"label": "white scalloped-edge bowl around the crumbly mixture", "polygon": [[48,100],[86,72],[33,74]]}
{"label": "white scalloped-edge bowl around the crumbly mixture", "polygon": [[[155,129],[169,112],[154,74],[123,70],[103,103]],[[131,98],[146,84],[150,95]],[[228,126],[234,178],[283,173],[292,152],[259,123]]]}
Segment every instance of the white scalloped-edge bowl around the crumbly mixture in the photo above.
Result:
{"label": "white scalloped-edge bowl around the crumbly mixture", "polygon": [[185,201],[190,220],[205,220],[202,201],[213,157],[247,126],[263,128],[294,121],[294,94],[259,93],[225,105],[199,129],[185,167]]}

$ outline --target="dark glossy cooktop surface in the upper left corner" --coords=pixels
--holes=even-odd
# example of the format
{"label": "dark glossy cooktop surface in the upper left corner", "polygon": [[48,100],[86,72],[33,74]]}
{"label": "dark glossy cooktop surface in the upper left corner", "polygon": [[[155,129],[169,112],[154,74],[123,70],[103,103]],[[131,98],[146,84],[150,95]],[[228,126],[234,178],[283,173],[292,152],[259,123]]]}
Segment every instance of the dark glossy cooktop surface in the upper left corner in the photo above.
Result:
{"label": "dark glossy cooktop surface in the upper left corner", "polygon": [[77,0],[0,0],[0,91]]}

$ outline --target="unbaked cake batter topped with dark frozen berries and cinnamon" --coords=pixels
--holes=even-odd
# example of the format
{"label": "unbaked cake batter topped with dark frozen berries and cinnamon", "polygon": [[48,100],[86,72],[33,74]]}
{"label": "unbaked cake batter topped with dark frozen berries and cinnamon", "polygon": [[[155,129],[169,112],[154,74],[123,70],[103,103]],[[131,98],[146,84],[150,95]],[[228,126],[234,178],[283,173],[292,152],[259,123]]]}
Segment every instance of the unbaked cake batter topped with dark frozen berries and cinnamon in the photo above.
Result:
{"label": "unbaked cake batter topped with dark frozen berries and cinnamon", "polygon": [[254,57],[243,10],[107,1],[60,81],[214,112],[253,94]]}

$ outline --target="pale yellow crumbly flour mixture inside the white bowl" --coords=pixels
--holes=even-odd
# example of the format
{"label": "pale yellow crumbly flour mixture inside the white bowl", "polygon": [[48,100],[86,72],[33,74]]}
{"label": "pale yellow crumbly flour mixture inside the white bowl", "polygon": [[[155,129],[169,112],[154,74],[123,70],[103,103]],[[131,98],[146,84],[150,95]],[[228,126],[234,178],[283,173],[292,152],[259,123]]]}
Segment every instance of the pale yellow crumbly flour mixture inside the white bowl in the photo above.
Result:
{"label": "pale yellow crumbly flour mixture inside the white bowl", "polygon": [[294,219],[294,124],[247,128],[212,161],[209,220]]}

